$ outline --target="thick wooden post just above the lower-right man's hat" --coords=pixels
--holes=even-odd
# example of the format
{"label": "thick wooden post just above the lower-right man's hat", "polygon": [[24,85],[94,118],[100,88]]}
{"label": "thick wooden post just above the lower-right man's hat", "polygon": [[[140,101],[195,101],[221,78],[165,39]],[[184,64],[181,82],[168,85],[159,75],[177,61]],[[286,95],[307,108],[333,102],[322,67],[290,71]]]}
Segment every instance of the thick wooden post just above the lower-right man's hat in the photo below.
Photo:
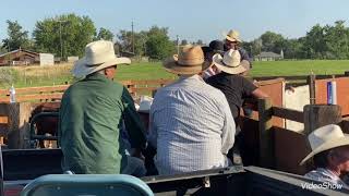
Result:
{"label": "thick wooden post just above the lower-right man's hat", "polygon": [[306,105],[304,111],[304,134],[314,130],[341,122],[341,108],[338,105]]}

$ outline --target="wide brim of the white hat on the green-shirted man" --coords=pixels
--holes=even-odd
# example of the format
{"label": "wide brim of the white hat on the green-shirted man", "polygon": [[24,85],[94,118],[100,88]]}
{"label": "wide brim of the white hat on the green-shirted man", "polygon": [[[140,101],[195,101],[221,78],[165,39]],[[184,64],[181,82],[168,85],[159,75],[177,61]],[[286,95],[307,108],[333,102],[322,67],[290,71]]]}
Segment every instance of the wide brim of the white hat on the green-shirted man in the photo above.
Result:
{"label": "wide brim of the white hat on the green-shirted man", "polygon": [[96,66],[88,66],[86,62],[86,58],[82,58],[81,60],[74,63],[72,73],[75,77],[83,77],[88,74],[98,72],[109,66],[119,65],[119,64],[131,64],[131,60],[129,58],[115,58],[110,61],[104,62]]}

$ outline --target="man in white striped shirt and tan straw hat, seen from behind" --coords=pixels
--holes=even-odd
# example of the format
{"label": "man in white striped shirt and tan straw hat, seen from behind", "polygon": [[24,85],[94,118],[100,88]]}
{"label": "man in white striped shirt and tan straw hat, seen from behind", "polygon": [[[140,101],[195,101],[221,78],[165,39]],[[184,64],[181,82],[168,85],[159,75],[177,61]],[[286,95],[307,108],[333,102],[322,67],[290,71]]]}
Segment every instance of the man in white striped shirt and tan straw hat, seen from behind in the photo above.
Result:
{"label": "man in white striped shirt and tan straw hat, seen from behind", "polygon": [[151,108],[148,142],[157,147],[159,174],[229,166],[234,122],[224,94],[197,75],[209,65],[198,46],[185,46],[164,62],[180,78],[160,88]]}

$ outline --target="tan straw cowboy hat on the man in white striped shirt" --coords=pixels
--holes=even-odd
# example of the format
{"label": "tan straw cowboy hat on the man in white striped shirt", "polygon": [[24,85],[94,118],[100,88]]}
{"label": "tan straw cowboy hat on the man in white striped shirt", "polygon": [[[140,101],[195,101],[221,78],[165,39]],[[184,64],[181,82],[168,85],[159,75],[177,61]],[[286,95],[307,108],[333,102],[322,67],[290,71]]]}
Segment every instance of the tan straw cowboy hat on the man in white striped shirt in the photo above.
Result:
{"label": "tan straw cowboy hat on the man in white striped shirt", "polygon": [[210,66],[205,61],[204,52],[200,46],[186,45],[179,54],[168,58],[163,63],[166,71],[174,74],[197,74]]}

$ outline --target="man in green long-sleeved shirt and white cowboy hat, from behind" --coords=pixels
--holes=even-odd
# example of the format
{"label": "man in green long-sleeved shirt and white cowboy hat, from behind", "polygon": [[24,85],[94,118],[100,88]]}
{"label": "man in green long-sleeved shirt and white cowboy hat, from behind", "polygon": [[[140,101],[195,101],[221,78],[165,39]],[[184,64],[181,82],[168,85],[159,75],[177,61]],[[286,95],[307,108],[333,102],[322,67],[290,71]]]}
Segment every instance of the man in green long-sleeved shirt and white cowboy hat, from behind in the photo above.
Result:
{"label": "man in green long-sleeved shirt and white cowboy hat, from behind", "polygon": [[83,79],[64,93],[59,112],[59,145],[63,171],[74,173],[120,173],[129,159],[120,137],[124,122],[135,157],[145,147],[144,126],[127,88],[113,82],[117,65],[130,64],[117,58],[111,41],[98,40],[85,48],[73,74]]}

